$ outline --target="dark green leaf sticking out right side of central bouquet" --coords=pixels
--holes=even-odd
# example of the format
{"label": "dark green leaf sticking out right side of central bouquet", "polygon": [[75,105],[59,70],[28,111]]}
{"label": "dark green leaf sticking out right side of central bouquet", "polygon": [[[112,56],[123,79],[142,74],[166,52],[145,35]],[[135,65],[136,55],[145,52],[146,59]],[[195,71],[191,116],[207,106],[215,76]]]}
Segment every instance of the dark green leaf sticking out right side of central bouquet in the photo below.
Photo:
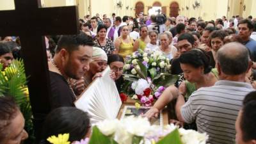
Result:
{"label": "dark green leaf sticking out right side of central bouquet", "polygon": [[161,75],[156,76],[153,79],[153,83],[157,84],[157,86],[167,87],[172,84],[175,84],[178,79],[179,79],[179,76],[177,76],[177,75],[161,74]]}

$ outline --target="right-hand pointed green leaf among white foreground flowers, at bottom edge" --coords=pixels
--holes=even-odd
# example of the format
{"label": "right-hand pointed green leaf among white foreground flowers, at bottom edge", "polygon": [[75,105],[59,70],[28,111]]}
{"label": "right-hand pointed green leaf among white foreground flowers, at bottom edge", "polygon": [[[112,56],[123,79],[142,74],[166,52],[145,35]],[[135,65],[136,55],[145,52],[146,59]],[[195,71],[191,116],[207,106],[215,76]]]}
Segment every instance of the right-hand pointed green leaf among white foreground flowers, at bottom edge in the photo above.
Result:
{"label": "right-hand pointed green leaf among white foreground flowers, at bottom edge", "polygon": [[175,129],[173,132],[170,132],[170,134],[167,134],[166,136],[164,136],[164,138],[158,141],[156,144],[166,144],[166,143],[182,144],[178,129]]}

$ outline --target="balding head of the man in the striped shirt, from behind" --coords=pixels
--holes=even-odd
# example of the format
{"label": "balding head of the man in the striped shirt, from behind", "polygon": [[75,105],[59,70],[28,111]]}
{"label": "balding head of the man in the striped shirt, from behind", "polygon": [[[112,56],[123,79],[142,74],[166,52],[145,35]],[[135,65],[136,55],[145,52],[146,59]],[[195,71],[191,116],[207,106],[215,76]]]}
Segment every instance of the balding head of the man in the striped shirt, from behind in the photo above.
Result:
{"label": "balding head of the man in the striped shirt, from behind", "polygon": [[223,45],[217,52],[221,71],[230,76],[244,74],[248,70],[250,53],[244,45],[231,42]]}

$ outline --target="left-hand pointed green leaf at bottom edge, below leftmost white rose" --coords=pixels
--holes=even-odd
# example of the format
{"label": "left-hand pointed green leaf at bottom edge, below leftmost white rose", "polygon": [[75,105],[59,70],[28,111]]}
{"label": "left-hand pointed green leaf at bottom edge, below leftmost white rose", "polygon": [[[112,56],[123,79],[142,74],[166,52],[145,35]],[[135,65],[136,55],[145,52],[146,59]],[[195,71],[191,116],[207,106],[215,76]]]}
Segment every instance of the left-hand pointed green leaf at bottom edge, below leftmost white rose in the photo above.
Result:
{"label": "left-hand pointed green leaf at bottom edge, below leftmost white rose", "polygon": [[89,144],[118,144],[113,138],[109,138],[100,132],[97,126],[92,128],[92,136]]}

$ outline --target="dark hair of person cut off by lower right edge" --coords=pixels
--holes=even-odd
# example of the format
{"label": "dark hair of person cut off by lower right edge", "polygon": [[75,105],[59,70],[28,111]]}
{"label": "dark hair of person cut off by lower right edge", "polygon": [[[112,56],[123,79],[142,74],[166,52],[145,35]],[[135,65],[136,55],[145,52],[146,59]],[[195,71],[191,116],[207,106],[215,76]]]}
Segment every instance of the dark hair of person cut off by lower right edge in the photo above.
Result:
{"label": "dark hair of person cut off by lower right edge", "polygon": [[241,122],[239,127],[243,133],[243,140],[256,140],[256,92],[246,95],[243,101]]}

